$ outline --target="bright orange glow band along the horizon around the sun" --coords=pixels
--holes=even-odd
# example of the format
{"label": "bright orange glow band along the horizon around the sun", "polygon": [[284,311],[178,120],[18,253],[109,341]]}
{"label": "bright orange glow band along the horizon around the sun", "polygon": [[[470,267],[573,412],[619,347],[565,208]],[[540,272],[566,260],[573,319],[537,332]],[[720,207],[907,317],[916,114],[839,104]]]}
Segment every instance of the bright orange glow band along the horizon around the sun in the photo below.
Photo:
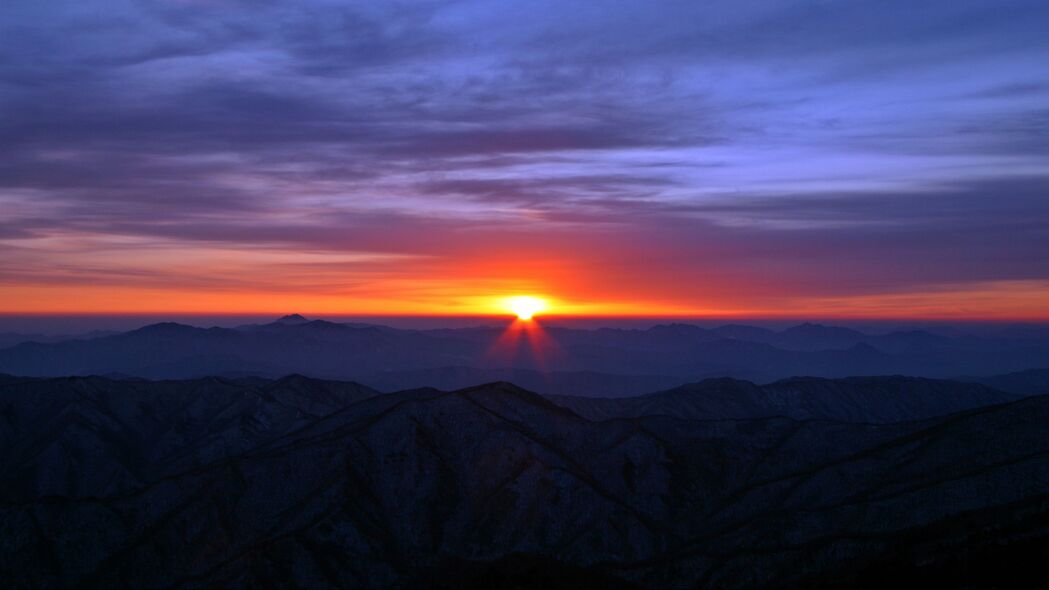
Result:
{"label": "bright orange glow band along the horizon around the sun", "polygon": [[[514,287],[540,289],[514,289]],[[254,286],[252,286],[254,287]],[[554,293],[538,281],[486,286],[471,280],[383,280],[351,292],[294,285],[267,289],[200,286],[129,285],[0,285],[0,314],[5,315],[284,315],[300,312],[330,316],[478,316],[499,317],[513,312],[510,293]],[[502,295],[492,287],[509,287]],[[543,295],[544,317],[661,317],[661,318],[842,318],[1047,321],[1045,293],[1049,281],[998,281],[955,286],[924,292],[837,296],[799,296],[761,293],[751,297],[711,294],[690,300],[667,293],[630,289],[605,294],[568,281],[558,295]],[[758,291],[758,290],[755,290]],[[682,300],[684,299],[684,301]],[[524,316],[529,315],[527,313]]]}

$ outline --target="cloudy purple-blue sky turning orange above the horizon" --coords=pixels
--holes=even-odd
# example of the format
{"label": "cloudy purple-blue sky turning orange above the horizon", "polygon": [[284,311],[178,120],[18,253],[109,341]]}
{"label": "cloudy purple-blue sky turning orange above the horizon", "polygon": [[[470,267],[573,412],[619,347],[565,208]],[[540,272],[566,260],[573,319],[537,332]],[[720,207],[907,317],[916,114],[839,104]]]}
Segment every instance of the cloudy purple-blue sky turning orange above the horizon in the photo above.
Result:
{"label": "cloudy purple-blue sky turning orange above the horizon", "polygon": [[0,313],[1049,319],[1045,0],[5,0]]}

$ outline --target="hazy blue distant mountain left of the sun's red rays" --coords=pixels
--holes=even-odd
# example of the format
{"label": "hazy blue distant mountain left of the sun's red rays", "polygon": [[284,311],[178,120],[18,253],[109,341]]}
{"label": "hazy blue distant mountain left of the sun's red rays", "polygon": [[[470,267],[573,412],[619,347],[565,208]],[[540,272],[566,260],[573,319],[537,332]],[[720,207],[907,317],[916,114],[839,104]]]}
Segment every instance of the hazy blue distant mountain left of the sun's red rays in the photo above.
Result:
{"label": "hazy blue distant mountain left of the sun's red rays", "polygon": [[165,322],[93,340],[19,344],[0,351],[0,371],[30,376],[304,373],[345,378],[384,368],[463,364],[465,358],[481,354],[477,349],[411,332],[322,320],[275,322],[254,330]]}

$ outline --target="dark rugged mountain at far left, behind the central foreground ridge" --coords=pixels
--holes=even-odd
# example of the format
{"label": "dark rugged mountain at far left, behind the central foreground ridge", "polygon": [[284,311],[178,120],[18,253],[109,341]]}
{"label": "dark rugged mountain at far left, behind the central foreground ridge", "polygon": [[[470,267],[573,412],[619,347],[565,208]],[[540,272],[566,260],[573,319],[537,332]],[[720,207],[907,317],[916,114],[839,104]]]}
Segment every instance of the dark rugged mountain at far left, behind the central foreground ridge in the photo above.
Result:
{"label": "dark rugged mountain at far left, behind the central foreground ridge", "polygon": [[[0,381],[0,477],[15,494],[121,493],[376,395],[356,383],[300,376],[262,386],[215,378]],[[37,457],[45,461],[26,460]]]}

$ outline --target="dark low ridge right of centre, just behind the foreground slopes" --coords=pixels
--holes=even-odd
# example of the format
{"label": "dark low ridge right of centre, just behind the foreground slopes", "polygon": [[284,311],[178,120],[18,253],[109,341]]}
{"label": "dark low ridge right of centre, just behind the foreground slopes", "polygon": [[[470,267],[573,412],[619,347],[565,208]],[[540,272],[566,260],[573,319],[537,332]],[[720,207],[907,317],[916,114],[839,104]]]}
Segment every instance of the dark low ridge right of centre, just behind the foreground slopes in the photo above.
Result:
{"label": "dark low ridge right of centre, just behind the foreground slopes", "polygon": [[591,420],[673,416],[694,420],[744,420],[783,416],[795,420],[889,423],[921,420],[1020,396],[977,383],[913,377],[791,378],[768,385],[707,379],[647,396],[594,399],[552,397]]}

